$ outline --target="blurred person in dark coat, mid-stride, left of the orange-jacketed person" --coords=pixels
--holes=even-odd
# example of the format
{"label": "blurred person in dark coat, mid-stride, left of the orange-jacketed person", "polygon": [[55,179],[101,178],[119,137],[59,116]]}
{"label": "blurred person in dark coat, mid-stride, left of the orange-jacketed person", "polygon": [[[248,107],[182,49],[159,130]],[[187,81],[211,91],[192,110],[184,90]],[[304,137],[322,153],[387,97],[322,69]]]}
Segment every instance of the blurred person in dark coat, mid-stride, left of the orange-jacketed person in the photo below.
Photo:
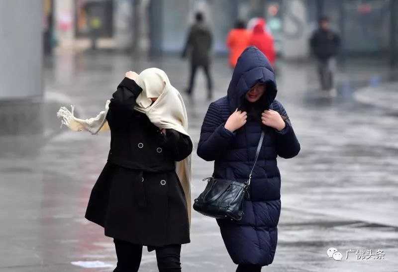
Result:
{"label": "blurred person in dark coat, mid-stride, left of the orange-jacketed person", "polygon": [[191,26],[188,33],[182,54],[183,58],[189,55],[189,60],[191,62],[190,85],[187,89],[187,93],[190,98],[193,97],[196,72],[198,68],[201,67],[207,79],[207,99],[211,99],[213,89],[210,75],[212,34],[209,27],[204,22],[204,17],[201,12],[196,13],[195,21],[196,22]]}

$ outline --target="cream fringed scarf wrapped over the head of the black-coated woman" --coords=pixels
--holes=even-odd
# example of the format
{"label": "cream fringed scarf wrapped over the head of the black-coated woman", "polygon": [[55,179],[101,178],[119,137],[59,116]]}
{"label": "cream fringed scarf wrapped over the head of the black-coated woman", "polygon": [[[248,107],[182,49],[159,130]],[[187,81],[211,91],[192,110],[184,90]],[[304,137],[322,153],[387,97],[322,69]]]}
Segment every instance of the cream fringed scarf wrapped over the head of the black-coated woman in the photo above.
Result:
{"label": "cream fringed scarf wrapped over the head of the black-coated woman", "polygon": [[[166,73],[158,68],[149,68],[139,74],[136,81],[142,88],[142,92],[136,99],[134,110],[145,113],[149,120],[157,127],[163,129],[174,129],[181,134],[190,136],[188,130],[188,116],[183,98],[169,81]],[[151,97],[158,97],[152,103]],[[110,101],[105,103],[105,110],[96,117],[90,119],[79,119],[74,116],[74,106],[69,111],[61,107],[57,113],[63,117],[62,124],[67,125],[73,131],[89,131],[92,134],[108,131],[106,114],[109,110]],[[176,173],[183,186],[188,204],[188,216],[191,221],[191,155],[181,162],[176,162]]]}

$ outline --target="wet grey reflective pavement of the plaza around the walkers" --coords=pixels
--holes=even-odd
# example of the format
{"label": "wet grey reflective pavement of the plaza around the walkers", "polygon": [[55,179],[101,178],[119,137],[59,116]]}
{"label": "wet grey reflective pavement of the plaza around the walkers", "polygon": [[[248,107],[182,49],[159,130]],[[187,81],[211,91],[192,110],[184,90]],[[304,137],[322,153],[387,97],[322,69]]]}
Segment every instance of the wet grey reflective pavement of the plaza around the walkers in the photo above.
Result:
{"label": "wet grey reflective pavement of the plaza around the walkers", "polygon": [[[40,133],[0,133],[1,272],[112,271],[71,264],[116,262],[112,240],[84,218],[91,188],[106,161],[109,134],[60,129],[56,111],[75,103],[80,117],[95,116],[126,71],[148,67],[164,69],[171,83],[184,90],[188,64],[179,59],[63,53],[46,61]],[[263,271],[398,271],[398,92],[392,91],[394,84],[383,84],[396,73],[370,67],[346,66],[337,77],[338,96],[331,99],[320,96],[312,65],[280,64],[278,99],[292,120],[301,152],[291,160],[279,159],[279,240],[274,263]],[[225,94],[230,76],[226,60],[216,59],[214,98]],[[196,145],[208,106],[204,90],[204,75],[199,73],[195,103],[187,100]],[[385,106],[389,100],[395,106]],[[193,163],[195,197],[212,164],[196,154]],[[342,253],[341,261],[328,258],[330,247]],[[362,258],[357,250],[382,250],[385,256],[378,257],[384,260],[375,255],[357,260],[356,253]],[[192,243],[183,246],[182,263],[184,272],[235,271],[213,219],[193,213]],[[157,271],[153,253],[144,251],[140,271]]]}

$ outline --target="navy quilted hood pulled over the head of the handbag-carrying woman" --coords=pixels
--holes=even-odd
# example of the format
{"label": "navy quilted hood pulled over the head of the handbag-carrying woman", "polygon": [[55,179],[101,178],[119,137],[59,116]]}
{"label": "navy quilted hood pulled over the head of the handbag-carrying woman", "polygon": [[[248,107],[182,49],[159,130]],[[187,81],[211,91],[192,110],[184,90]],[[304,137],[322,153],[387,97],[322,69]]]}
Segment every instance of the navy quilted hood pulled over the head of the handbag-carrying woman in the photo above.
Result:
{"label": "navy quilted hood pulled over the head of the handbag-carrying woman", "polygon": [[258,82],[267,86],[262,100],[266,103],[264,107],[269,108],[277,96],[274,70],[267,57],[256,47],[250,46],[240,55],[229,83],[227,97],[231,112],[241,107],[246,92]]}

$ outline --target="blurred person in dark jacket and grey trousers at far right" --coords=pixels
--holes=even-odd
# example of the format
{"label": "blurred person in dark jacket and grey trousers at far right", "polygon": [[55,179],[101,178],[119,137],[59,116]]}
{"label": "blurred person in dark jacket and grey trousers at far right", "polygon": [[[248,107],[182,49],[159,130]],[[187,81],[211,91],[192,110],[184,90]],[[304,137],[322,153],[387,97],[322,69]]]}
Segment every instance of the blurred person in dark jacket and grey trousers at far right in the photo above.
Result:
{"label": "blurred person in dark jacket and grey trousers at far right", "polygon": [[328,17],[323,16],[319,20],[319,28],[312,34],[310,46],[317,59],[319,81],[323,95],[336,96],[334,73],[336,55],[340,48],[340,36],[330,29]]}

